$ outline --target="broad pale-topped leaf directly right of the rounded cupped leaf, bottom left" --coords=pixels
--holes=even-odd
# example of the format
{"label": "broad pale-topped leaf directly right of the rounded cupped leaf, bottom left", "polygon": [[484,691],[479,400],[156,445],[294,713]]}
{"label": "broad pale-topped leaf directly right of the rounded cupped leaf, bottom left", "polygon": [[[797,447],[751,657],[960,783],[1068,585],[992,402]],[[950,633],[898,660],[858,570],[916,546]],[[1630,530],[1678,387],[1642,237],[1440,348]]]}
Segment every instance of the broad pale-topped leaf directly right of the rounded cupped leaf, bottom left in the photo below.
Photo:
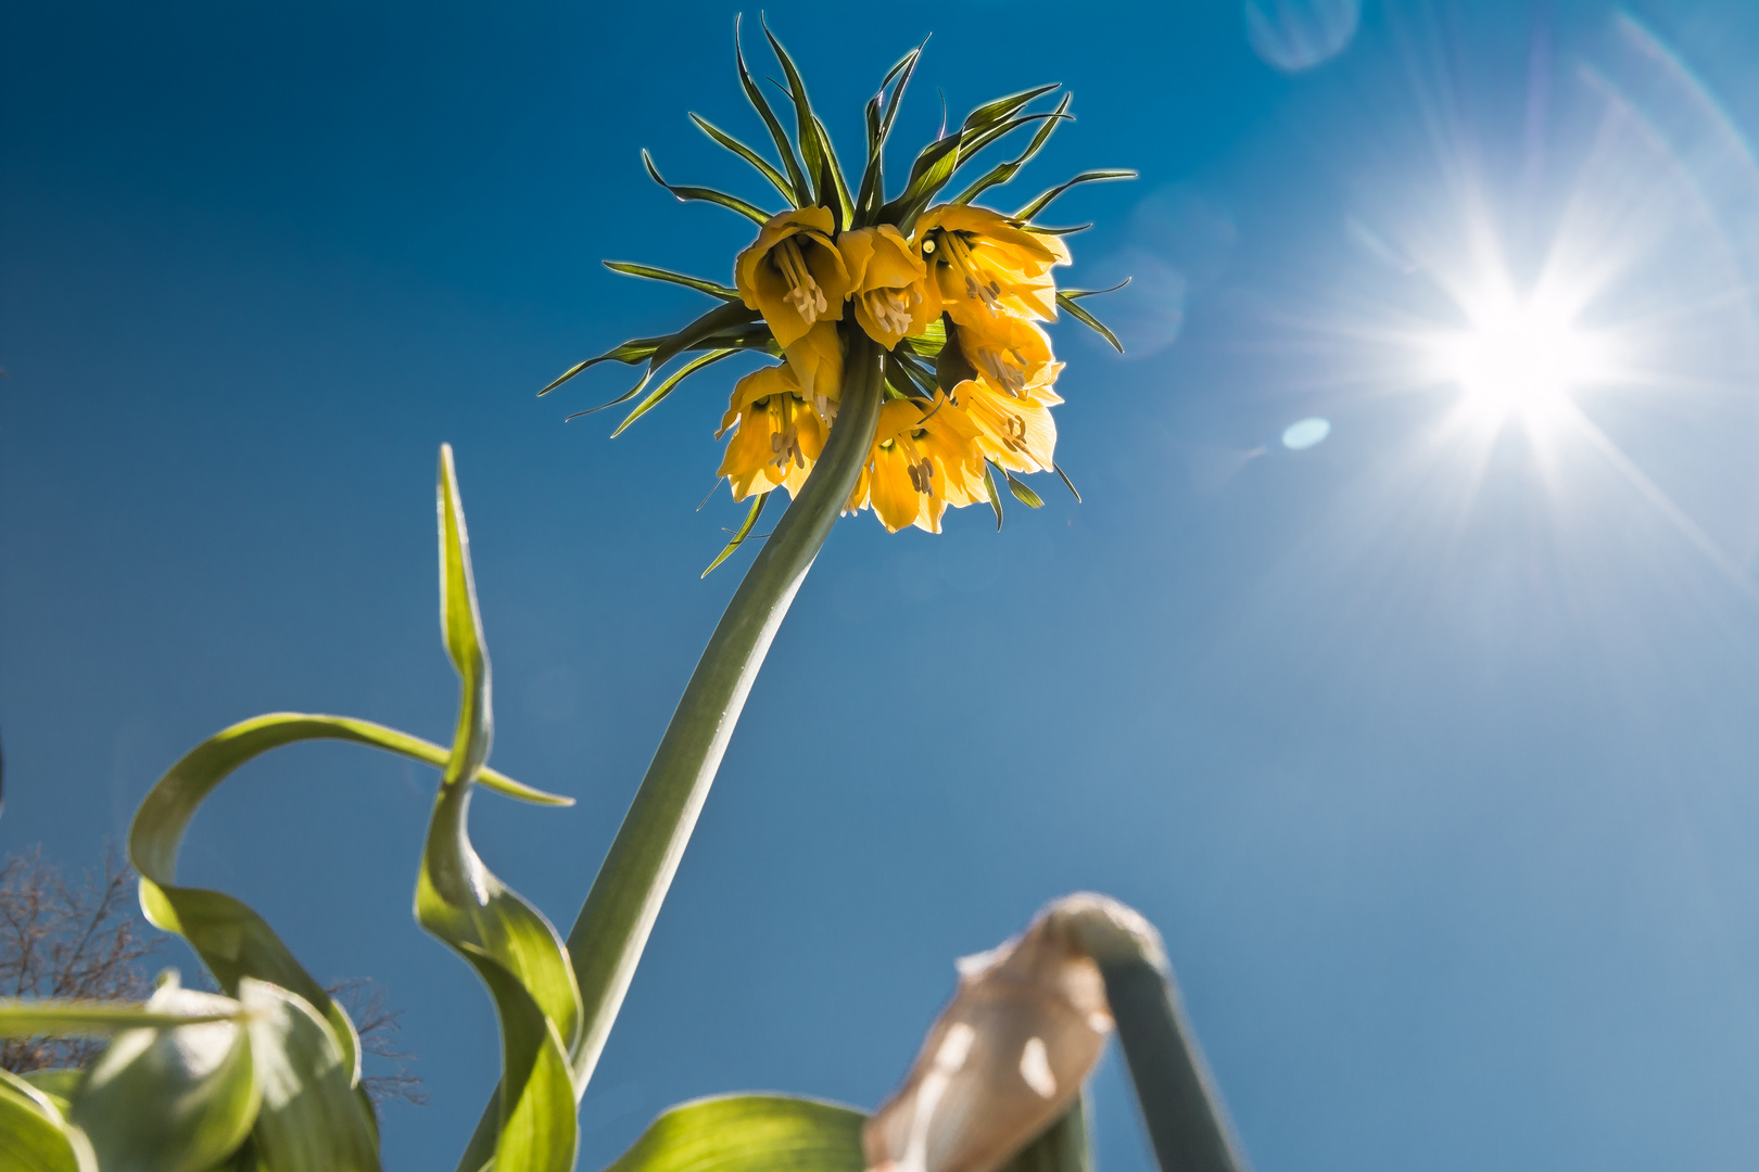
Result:
{"label": "broad pale-topped leaf directly right of the rounded cupped leaf, bottom left", "polygon": [[274,1172],[378,1172],[378,1137],[361,1111],[331,1024],[287,989],[239,982],[262,1107],[252,1130]]}

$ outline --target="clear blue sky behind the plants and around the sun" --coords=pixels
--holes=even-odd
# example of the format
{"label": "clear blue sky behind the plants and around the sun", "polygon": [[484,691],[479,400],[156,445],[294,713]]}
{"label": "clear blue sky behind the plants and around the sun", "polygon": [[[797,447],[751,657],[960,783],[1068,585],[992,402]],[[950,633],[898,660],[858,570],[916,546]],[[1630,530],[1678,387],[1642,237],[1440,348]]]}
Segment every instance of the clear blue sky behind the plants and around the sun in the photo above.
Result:
{"label": "clear blue sky behind the plants and around the sun", "polygon": [[[445,738],[450,441],[494,763],[579,798],[485,798],[477,843],[573,917],[746,564],[698,580],[739,517],[725,490],[693,511],[732,374],[616,441],[561,420],[621,369],[533,392],[697,311],[600,258],[718,278],[748,241],[637,155],[762,197],[684,119],[760,134],[734,12],[0,14],[0,850],[95,859],[259,712]],[[1073,889],[1164,933],[1261,1172],[1759,1158],[1755,14],[1370,0],[1293,72],[1226,0],[767,14],[844,144],[929,32],[902,142],[936,90],[957,118],[1068,83],[1078,121],[1015,202],[1142,172],[1062,211],[1096,225],[1071,285],[1138,278],[1101,307],[1131,357],[1055,329],[1084,504],[1052,481],[1001,534],[837,525],[580,1167],[697,1095],[872,1105],[953,958]],[[1425,365],[1486,248],[1520,290],[1562,272],[1617,358],[1551,415]],[[1307,416],[1330,436],[1281,448]],[[433,1103],[389,1112],[394,1172],[454,1158],[496,1061],[475,977],[408,914],[433,784],[287,750],[183,857],[405,1009]],[[1103,1167],[1145,1172],[1115,1060],[1098,1111]]]}

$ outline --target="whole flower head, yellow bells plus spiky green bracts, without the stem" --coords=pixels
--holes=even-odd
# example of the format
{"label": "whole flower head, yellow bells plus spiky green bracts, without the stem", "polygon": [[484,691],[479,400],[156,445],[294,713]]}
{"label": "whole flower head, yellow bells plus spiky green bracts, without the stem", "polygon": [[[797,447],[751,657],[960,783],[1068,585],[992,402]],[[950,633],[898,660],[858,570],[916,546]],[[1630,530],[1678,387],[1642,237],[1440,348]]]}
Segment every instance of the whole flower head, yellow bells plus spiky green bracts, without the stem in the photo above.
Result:
{"label": "whole flower head, yellow bells plus spiky green bracts, without the stem", "polygon": [[[739,83],[767,127],[779,163],[707,119],[690,118],[763,176],[783,209],[770,213],[726,192],[667,183],[642,151],[654,183],[679,200],[719,204],[749,218],[758,237],[739,253],[732,285],[607,260],[616,272],[684,285],[723,304],[672,334],[631,337],[579,362],[540,394],[600,362],[646,365],[635,387],[591,408],[637,401],[616,436],[686,378],[723,358],[741,353],[777,358],[776,365],[739,380],[721,416],[718,436],[730,438],[718,471],[730,481],[734,499],[751,499],[751,506],[716,566],[751,532],[772,490],[793,496],[806,483],[837,415],[855,330],[883,351],[885,404],[848,499],[850,511],[872,508],[888,531],[916,525],[939,532],[948,508],[978,503],[990,504],[1001,525],[997,473],[1033,508],[1043,501],[1020,480],[1024,474],[1055,473],[1075,492],[1055,462],[1050,411],[1062,402],[1055,392],[1062,364],[1041,323],[1064,311],[1122,346],[1078,304],[1108,290],[1055,286],[1052,271],[1069,264],[1064,237],[1087,225],[1045,227],[1038,216],[1077,184],[1135,172],[1085,170],[1011,213],[976,204],[1011,181],[1055,128],[1071,119],[1068,93],[1052,109],[1029,109],[1061,88],[1048,84],[971,111],[957,130],[943,132],[916,155],[902,190],[888,195],[885,146],[922,58],[918,46],[887,72],[867,102],[865,156],[851,186],[825,123],[813,112],[800,70],[769,28],[763,32],[788,83],[792,135],[753,81],[737,28],[734,54]],[[1027,130],[1020,155],[996,162],[945,199],[946,188],[985,148]]]}

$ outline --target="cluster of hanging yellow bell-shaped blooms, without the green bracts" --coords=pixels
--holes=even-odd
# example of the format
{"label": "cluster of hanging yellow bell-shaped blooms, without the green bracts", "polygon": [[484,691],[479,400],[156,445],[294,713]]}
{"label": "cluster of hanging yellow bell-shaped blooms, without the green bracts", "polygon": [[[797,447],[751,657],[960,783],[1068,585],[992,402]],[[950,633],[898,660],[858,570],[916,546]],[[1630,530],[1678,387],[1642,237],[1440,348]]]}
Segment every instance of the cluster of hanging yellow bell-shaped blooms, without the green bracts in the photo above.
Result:
{"label": "cluster of hanging yellow bell-shaped blooms, without the green bracts", "polygon": [[839,322],[888,351],[938,327],[946,348],[932,399],[888,392],[851,511],[871,506],[892,532],[939,532],[948,506],[990,499],[985,460],[1050,471],[1062,364],[1038,323],[1057,316],[1050,269],[1066,264],[1059,237],[966,204],[929,207],[909,237],[892,225],[837,234],[828,207],[770,218],[734,279],[786,360],[734,387],[719,432],[734,430],[719,469],[734,497],[800,490],[837,413]]}

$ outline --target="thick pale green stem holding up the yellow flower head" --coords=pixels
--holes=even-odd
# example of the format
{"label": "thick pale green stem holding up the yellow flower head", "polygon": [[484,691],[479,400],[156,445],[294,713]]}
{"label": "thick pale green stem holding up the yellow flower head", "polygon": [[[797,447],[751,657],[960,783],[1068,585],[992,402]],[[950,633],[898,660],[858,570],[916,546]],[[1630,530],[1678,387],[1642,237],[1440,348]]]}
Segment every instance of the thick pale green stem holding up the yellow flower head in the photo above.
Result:
{"label": "thick pale green stem holding up the yellow flower head", "polygon": [[[860,329],[844,329],[843,336],[843,401],[825,450],[714,627],[610,854],[598,868],[586,907],[568,931],[568,958],[586,1023],[572,1054],[577,1088],[591,1079],[623,1009],[623,995],[770,640],[872,448],[885,385],[881,353]],[[494,1154],[496,1118],[498,1105],[491,1102],[459,1161],[461,1170],[475,1172]]]}

